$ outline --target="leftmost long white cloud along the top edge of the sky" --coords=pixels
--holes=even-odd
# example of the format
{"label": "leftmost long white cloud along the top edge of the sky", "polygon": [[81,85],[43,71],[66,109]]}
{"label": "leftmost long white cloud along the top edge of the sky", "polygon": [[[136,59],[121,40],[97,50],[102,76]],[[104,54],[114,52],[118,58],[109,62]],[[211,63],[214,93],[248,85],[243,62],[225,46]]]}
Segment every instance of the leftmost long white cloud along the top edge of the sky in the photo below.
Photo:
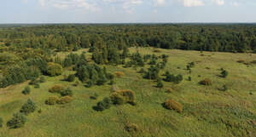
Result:
{"label": "leftmost long white cloud along the top edge of the sky", "polygon": [[38,2],[42,7],[54,7],[55,9],[82,8],[93,12],[100,10],[96,3],[88,3],[85,0],[38,0]]}

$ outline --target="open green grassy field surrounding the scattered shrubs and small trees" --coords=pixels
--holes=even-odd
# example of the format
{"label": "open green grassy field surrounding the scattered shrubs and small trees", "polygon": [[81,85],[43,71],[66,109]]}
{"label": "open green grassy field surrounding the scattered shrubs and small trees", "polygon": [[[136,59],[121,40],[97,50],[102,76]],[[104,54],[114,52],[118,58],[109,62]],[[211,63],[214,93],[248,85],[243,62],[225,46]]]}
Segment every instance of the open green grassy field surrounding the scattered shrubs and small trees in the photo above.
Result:
{"label": "open green grassy field surrounding the scattered shrubs and small trees", "polygon": [[[130,49],[135,52],[137,49]],[[153,49],[138,49],[141,54],[153,54]],[[82,53],[79,51],[78,53]],[[67,53],[61,53],[64,56]],[[164,88],[155,88],[156,83],[143,79],[137,73],[140,68],[107,66],[108,71],[123,71],[124,77],[117,77],[115,85],[85,88],[84,84],[74,87],[73,83],[61,81],[59,77],[46,77],[40,88],[32,88],[29,95],[21,94],[28,82],[0,89],[0,117],[4,125],[1,137],[82,137],[82,136],[256,136],[256,65],[246,66],[237,60],[252,61],[256,54],[211,53],[160,49],[157,55],[168,54],[165,70],[182,74],[182,83],[166,83]],[[202,55],[203,54],[203,55]],[[88,54],[89,55],[89,54]],[[195,62],[192,73],[186,70],[189,62]],[[148,67],[148,66],[147,66]],[[229,71],[226,78],[218,77],[220,68]],[[66,70],[64,74],[74,73]],[[192,81],[186,80],[189,76]],[[202,86],[204,78],[212,80],[211,86]],[[66,105],[47,106],[44,100],[50,94],[48,89],[61,84],[73,89],[74,100]],[[218,88],[228,85],[228,91]],[[137,106],[112,106],[106,111],[94,111],[93,106],[109,96],[113,87],[131,89],[136,94]],[[171,93],[166,89],[171,88]],[[97,100],[90,95],[99,94]],[[57,94],[55,94],[57,95]],[[9,129],[6,122],[12,114],[30,98],[38,109],[30,114],[23,128]],[[166,110],[161,106],[168,99],[183,105],[183,112]],[[134,123],[137,132],[127,132],[125,125]]]}

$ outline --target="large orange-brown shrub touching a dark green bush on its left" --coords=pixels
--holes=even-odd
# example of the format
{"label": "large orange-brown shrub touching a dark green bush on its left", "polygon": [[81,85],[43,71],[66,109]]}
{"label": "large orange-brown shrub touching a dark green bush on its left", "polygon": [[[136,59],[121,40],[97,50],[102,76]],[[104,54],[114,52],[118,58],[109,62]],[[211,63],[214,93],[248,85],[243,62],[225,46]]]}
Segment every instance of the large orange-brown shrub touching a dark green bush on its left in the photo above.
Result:
{"label": "large orange-brown shrub touching a dark green bush on its left", "polygon": [[124,103],[135,104],[135,94],[131,90],[119,90],[110,95],[110,99],[115,105],[122,105]]}

